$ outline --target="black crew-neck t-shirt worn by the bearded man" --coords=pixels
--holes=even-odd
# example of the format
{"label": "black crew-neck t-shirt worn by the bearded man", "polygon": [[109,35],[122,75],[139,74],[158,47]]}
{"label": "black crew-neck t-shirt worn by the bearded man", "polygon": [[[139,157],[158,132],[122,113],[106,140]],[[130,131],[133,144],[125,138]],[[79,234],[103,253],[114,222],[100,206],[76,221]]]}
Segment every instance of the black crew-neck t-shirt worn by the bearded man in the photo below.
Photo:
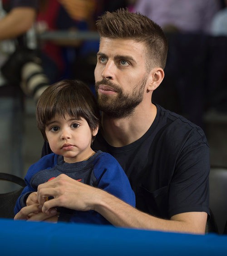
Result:
{"label": "black crew-neck t-shirt worn by the bearded man", "polygon": [[154,122],[137,141],[115,148],[99,131],[93,149],[118,160],[138,209],[167,219],[183,212],[209,214],[209,146],[202,129],[182,116],[157,105]]}

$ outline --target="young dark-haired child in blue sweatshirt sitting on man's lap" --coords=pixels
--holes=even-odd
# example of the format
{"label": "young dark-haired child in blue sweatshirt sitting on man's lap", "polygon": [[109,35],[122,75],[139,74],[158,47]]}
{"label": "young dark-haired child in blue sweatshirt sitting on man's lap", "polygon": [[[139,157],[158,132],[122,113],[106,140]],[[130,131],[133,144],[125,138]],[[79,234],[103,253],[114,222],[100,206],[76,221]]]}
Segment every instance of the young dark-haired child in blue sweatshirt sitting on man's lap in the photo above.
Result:
{"label": "young dark-haired child in blue sweatshirt sitting on man's lap", "polygon": [[[99,109],[89,87],[79,80],[64,80],[49,86],[37,102],[36,120],[53,153],[28,169],[27,185],[16,202],[15,214],[26,205],[38,203],[35,191],[39,184],[60,174],[104,189],[135,206],[134,192],[117,160],[91,148],[99,129]],[[95,211],[63,207],[58,207],[58,211],[58,221],[109,224]]]}

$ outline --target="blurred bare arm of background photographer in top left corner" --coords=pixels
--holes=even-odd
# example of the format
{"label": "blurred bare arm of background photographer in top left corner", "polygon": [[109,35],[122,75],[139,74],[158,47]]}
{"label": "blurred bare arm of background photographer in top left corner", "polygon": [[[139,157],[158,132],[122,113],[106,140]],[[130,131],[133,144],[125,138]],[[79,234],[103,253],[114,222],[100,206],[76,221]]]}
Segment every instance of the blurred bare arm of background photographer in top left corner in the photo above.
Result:
{"label": "blurred bare arm of background photographer in top left corner", "polygon": [[0,40],[14,38],[30,29],[36,11],[31,7],[15,7],[0,20]]}

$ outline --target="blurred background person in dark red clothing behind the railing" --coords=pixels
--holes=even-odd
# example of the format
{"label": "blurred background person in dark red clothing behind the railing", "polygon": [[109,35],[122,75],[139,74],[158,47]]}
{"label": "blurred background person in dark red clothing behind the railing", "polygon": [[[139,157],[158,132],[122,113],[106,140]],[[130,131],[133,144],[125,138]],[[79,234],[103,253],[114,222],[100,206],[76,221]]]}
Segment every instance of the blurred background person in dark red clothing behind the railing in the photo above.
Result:
{"label": "blurred background person in dark red clothing behind the railing", "polygon": [[[60,1],[39,0],[35,28],[38,34],[48,31],[75,31],[77,24]],[[70,45],[77,47],[79,44],[79,41],[68,41],[64,38],[39,41],[42,66],[50,84],[68,76],[67,50]]]}

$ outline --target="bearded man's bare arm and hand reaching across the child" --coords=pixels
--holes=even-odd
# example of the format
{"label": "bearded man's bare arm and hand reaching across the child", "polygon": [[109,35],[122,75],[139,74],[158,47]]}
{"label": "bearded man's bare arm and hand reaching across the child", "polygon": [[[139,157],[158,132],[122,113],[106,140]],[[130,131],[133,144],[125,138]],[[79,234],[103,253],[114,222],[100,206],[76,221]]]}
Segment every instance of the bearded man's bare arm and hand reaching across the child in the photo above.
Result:
{"label": "bearded man's bare arm and hand reaching across the child", "polygon": [[[47,196],[53,196],[54,199],[45,202]],[[114,195],[82,184],[64,174],[39,185],[37,198],[46,214],[56,206],[73,210],[95,210],[115,226],[204,234],[207,221],[205,212],[182,213],[172,216],[171,220],[159,219],[133,208]]]}

